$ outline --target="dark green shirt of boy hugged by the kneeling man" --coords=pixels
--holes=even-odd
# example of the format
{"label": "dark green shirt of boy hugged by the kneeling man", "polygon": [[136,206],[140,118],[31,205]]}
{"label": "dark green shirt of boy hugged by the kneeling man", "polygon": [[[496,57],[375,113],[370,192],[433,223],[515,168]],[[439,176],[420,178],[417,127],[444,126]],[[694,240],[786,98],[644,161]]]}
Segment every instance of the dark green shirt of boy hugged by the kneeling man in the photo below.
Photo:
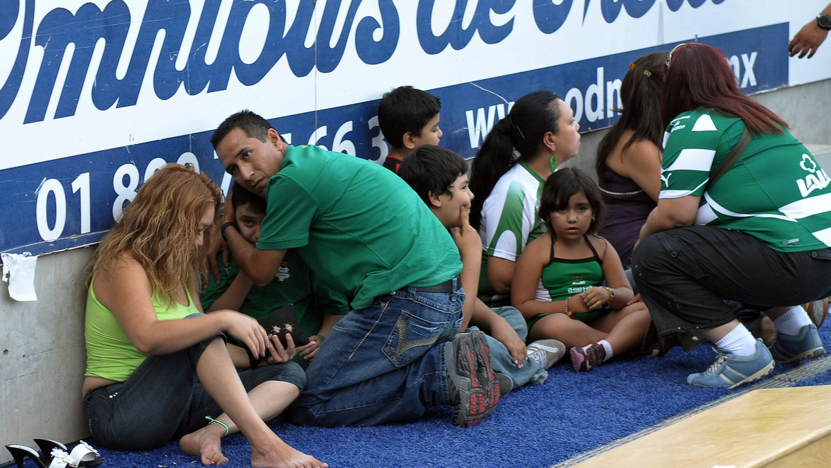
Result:
{"label": "dark green shirt of boy hugged by the kneeling man", "polygon": [[[219,284],[214,281],[214,274],[211,273],[208,287],[202,292],[204,308],[209,308],[225,293],[239,273],[239,265],[234,259],[231,259],[228,268],[224,268],[221,255],[217,256],[220,262]],[[261,318],[291,303],[296,308],[297,323],[302,332],[309,337],[320,331],[324,314],[343,315],[349,312],[347,298],[317,281],[297,253],[289,250],[273,281],[265,286],[254,284],[239,312],[253,318]]]}

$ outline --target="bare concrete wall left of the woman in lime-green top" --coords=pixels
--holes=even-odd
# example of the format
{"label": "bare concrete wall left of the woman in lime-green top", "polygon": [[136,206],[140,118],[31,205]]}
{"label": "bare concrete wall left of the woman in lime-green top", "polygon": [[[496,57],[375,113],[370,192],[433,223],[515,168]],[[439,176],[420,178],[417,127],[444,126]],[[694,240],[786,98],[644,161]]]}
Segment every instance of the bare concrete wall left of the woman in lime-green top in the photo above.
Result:
{"label": "bare concrete wall left of the woman in lime-green top", "polygon": [[[8,229],[4,226],[3,229]],[[86,365],[84,303],[92,248],[37,259],[37,301],[0,292],[0,445],[32,446],[32,437],[88,436],[81,414]],[[7,460],[0,452],[0,462]]]}

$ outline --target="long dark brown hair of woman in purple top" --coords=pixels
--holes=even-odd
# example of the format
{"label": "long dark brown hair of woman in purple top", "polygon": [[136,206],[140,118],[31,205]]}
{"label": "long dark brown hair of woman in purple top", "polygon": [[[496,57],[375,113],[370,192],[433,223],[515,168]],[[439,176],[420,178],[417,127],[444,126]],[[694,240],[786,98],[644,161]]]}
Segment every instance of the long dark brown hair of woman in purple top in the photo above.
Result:
{"label": "long dark brown hair of woman in purple top", "polygon": [[642,140],[652,141],[661,148],[666,128],[661,122],[661,86],[664,84],[667,55],[666,51],[652,52],[638,57],[629,66],[630,70],[621,83],[621,117],[597,147],[594,168],[598,178],[606,175],[606,161],[627,130],[632,131],[632,138],[623,145],[621,152]]}

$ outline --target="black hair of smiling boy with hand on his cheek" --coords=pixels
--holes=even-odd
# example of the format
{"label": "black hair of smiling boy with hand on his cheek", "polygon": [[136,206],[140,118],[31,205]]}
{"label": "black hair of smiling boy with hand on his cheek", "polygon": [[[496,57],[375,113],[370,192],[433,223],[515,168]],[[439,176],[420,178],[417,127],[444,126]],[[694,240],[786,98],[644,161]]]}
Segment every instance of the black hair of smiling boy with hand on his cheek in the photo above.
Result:
{"label": "black hair of smiling boy with hand on his cheek", "polygon": [[430,206],[430,193],[449,195],[450,185],[467,173],[467,161],[441,146],[420,145],[401,161],[398,175]]}

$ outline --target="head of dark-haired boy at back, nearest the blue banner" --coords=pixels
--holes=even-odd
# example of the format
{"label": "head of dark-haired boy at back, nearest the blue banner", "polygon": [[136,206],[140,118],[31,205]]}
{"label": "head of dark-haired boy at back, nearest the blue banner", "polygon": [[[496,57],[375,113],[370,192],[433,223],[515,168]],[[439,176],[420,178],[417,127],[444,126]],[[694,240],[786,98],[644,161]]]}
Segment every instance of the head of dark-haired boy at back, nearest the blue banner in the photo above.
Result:
{"label": "head of dark-haired boy at back, nearest the blue banner", "polygon": [[412,86],[398,86],[381,97],[378,125],[393,150],[409,152],[419,145],[439,144],[439,111],[438,97]]}

